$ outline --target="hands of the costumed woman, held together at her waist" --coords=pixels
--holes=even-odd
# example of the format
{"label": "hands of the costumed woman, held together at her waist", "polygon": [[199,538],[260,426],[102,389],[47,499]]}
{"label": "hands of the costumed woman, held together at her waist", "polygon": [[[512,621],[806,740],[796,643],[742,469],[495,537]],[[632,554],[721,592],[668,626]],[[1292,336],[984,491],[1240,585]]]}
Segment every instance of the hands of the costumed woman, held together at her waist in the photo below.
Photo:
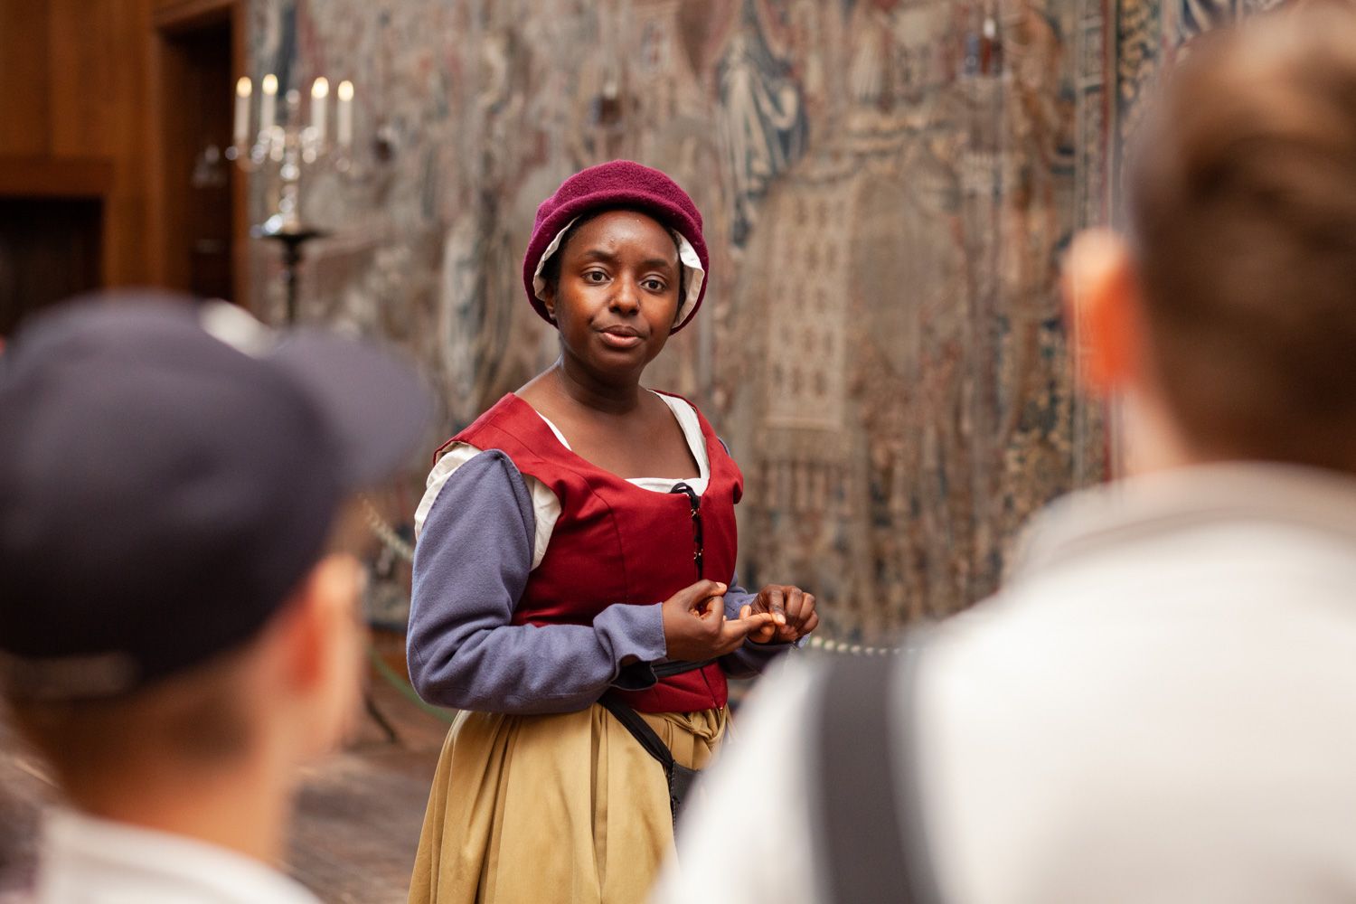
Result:
{"label": "hands of the costumed woman, held together at her waist", "polygon": [[757,644],[796,641],[819,623],[815,598],[799,587],[769,584],[739,618],[725,618],[725,584],[700,580],[663,603],[664,645],[671,660],[702,663]]}

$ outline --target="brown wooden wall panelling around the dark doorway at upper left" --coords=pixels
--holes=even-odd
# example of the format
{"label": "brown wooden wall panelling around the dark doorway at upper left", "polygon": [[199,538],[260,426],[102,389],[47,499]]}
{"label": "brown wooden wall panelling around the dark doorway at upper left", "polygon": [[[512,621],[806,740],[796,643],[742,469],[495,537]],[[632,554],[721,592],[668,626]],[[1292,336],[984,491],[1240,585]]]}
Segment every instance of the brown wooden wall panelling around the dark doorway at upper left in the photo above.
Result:
{"label": "brown wooden wall panelling around the dark doorway at upper left", "polygon": [[[104,285],[183,283],[163,253],[160,45],[210,19],[231,22],[236,77],[239,0],[0,0],[0,195],[102,197]],[[231,180],[244,286],[247,186],[233,169]]]}

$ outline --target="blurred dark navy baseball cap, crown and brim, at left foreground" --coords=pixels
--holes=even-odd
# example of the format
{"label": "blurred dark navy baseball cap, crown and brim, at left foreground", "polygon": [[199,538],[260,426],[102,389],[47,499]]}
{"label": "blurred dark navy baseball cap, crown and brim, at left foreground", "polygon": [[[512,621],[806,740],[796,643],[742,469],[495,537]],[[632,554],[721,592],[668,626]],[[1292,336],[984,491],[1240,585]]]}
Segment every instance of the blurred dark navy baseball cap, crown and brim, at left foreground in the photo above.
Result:
{"label": "blurred dark navy baseball cap, crown and brim, at left foreground", "polygon": [[110,697],[247,641],[428,413],[392,355],[224,302],[33,319],[0,354],[0,676]]}

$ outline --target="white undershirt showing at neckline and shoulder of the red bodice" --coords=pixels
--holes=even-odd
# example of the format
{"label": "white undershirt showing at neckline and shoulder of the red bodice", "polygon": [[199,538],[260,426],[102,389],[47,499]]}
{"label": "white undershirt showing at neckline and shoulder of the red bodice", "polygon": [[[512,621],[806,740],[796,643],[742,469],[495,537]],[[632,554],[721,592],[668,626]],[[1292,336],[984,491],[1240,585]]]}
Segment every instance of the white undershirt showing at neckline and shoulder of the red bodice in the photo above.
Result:
{"label": "white undershirt showing at neckline and shoulder of the red bodice", "polygon": [[[674,412],[674,417],[682,428],[683,439],[687,440],[687,450],[692,451],[692,457],[697,462],[700,476],[632,477],[626,482],[656,493],[667,493],[675,484],[685,482],[692,487],[694,493],[701,496],[706,492],[706,484],[711,481],[711,457],[706,454],[706,436],[701,432],[701,422],[697,420],[697,409],[675,396],[664,396],[663,393],[655,394],[659,396],[666,405],[669,405],[670,411]],[[561,434],[560,430],[557,430],[556,426],[541,412],[537,412],[537,416],[546,422],[546,426],[551,427],[551,432],[560,440],[560,445],[570,449],[570,443],[565,440],[564,434]],[[458,468],[479,455],[481,451],[481,449],[477,449],[471,443],[453,443],[438,459],[438,464],[433,466],[433,470],[428,472],[423,499],[419,500],[419,507],[415,510],[416,538],[423,530],[424,519],[433,510],[433,504],[438,499],[438,493],[442,492],[447,478],[452,477]],[[542,557],[546,554],[546,545],[551,543],[551,534],[556,530],[556,520],[560,518],[560,500],[536,477],[523,474],[522,480],[527,485],[527,492],[532,493],[533,520],[537,527],[532,554],[532,567],[536,568],[541,564]]]}

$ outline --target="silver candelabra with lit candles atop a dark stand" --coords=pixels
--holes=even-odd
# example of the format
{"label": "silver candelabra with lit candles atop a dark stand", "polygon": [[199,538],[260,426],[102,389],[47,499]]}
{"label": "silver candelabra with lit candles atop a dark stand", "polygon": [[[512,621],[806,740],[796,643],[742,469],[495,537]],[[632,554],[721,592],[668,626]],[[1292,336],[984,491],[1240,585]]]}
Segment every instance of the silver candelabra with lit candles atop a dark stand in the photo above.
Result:
{"label": "silver candelabra with lit candles atop a dark stand", "polygon": [[259,102],[259,129],[250,141],[251,99],[254,83],[241,77],[236,83],[236,119],[233,141],[226,148],[226,160],[235,161],[250,173],[268,178],[268,197],[277,186],[277,205],[262,224],[252,226],[255,237],[270,239],[282,245],[283,283],[287,297],[287,323],[297,320],[297,266],[301,247],[323,236],[321,229],[301,220],[301,175],[304,167],[332,163],[339,172],[348,172],[353,146],[353,83],[339,83],[334,153],[327,136],[330,80],[316,79],[311,85],[311,125],[301,125],[301,92],[296,88],[283,95],[286,125],[277,123],[278,77],[267,75],[262,81]]}

